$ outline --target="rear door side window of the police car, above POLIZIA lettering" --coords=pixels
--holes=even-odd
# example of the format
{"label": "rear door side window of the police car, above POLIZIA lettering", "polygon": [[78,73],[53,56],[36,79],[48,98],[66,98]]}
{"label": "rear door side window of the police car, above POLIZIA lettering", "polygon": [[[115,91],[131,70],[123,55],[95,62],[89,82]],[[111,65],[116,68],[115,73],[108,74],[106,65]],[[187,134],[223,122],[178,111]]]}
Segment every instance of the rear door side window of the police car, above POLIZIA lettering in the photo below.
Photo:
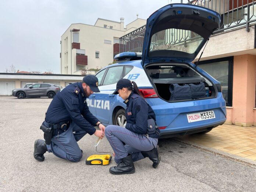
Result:
{"label": "rear door side window of the police car, above POLIZIA lettering", "polygon": [[103,85],[117,83],[117,81],[122,78],[122,70],[123,66],[110,67],[104,78]]}

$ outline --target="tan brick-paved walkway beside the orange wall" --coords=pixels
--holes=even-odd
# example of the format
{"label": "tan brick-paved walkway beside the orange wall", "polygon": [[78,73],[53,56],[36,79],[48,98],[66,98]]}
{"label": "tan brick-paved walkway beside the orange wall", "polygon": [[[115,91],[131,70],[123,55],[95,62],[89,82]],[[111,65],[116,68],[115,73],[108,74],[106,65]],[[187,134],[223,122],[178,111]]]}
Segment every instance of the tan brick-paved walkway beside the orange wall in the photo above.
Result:
{"label": "tan brick-paved walkway beside the orange wall", "polygon": [[207,134],[181,136],[179,140],[198,143],[256,161],[256,127],[253,126],[223,124]]}

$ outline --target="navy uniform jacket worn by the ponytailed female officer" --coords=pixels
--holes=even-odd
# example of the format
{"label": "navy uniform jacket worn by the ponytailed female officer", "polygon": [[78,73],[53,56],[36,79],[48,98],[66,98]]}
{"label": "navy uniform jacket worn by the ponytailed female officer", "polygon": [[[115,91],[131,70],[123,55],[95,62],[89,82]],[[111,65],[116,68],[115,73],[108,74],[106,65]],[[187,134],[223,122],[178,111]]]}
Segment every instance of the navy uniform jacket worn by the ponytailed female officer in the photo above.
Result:
{"label": "navy uniform jacket worn by the ponytailed female officer", "polygon": [[138,134],[146,134],[147,120],[154,119],[156,121],[156,115],[153,109],[145,99],[134,92],[129,95],[124,103],[127,105],[125,110],[125,128]]}

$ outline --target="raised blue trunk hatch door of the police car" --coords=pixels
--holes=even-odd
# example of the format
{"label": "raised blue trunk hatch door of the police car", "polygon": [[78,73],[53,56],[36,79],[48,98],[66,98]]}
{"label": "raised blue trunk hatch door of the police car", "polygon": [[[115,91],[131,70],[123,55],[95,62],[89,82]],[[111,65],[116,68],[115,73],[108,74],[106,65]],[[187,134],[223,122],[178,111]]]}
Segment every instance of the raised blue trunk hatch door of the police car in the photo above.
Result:
{"label": "raised blue trunk hatch door of the police car", "polygon": [[152,62],[191,62],[220,26],[220,14],[190,4],[170,4],[147,19],[142,66]]}

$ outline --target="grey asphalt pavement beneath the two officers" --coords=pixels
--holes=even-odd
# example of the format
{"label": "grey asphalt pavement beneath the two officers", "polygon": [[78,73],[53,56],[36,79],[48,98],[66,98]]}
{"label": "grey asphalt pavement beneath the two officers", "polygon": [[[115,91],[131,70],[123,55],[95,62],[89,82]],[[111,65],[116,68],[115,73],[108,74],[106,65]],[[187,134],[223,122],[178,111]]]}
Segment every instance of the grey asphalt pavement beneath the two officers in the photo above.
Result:
{"label": "grey asphalt pavement beneath the two officers", "polygon": [[[178,143],[160,139],[161,163],[149,159],[134,163],[135,174],[111,175],[106,166],[89,166],[85,160],[95,151],[96,136],[78,142],[83,157],[78,163],[52,153],[45,161],[33,158],[35,139],[51,99],[17,99],[0,96],[0,191],[255,191],[256,168]],[[104,138],[98,151],[112,152]]]}

